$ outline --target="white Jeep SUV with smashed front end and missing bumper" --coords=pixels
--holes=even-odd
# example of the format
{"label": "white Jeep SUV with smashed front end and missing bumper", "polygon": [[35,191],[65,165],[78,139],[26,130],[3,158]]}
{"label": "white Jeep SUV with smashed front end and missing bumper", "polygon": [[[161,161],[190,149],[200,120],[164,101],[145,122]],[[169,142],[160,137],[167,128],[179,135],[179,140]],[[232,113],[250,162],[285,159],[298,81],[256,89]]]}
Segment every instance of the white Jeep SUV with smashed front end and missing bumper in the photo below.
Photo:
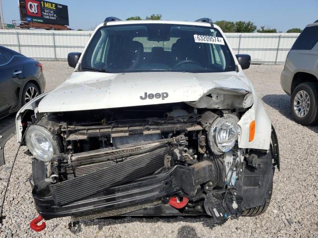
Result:
{"label": "white Jeep SUV with smashed front end and missing bumper", "polygon": [[[198,33],[224,42],[188,38]],[[170,54],[164,58],[156,47],[146,51],[148,41],[169,40],[176,45],[164,49]],[[113,55],[118,44],[116,55],[129,60]],[[215,60],[210,71],[184,44]],[[277,138],[232,55],[220,28],[210,23],[97,27],[71,78],[17,114],[18,140],[33,155],[38,213],[73,221],[207,214],[221,224],[264,212],[279,167]],[[167,56],[177,62],[163,65]],[[97,67],[100,62],[107,70]]]}

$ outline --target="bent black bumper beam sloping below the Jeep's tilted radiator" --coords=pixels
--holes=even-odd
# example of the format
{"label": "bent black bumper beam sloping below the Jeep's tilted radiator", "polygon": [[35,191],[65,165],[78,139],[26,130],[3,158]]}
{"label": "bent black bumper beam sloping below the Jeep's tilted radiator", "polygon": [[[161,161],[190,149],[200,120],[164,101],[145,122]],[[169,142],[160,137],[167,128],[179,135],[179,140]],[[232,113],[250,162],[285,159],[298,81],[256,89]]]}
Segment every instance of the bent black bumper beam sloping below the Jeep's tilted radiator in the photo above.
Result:
{"label": "bent black bumper beam sloping below the Jeep's tilted radiator", "polygon": [[[34,163],[40,162],[33,160]],[[201,165],[174,166],[165,173],[137,179],[63,206],[56,205],[52,194],[41,196],[33,188],[32,195],[36,210],[46,220],[132,206],[162,199],[180,191],[185,192],[185,196],[196,196],[200,183],[207,182],[211,177],[216,178],[208,172],[216,171],[214,163],[203,161],[198,164]]]}

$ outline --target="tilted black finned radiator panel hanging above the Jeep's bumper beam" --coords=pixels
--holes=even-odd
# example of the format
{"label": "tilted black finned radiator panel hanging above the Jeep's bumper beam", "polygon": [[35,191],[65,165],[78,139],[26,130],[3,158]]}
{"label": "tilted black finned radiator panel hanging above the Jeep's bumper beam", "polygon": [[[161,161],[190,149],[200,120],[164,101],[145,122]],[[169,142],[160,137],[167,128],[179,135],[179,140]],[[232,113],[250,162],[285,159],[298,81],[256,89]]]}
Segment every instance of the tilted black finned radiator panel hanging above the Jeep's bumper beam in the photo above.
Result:
{"label": "tilted black finned radiator panel hanging above the Jeep's bumper beam", "polygon": [[86,175],[50,185],[56,205],[62,206],[94,193],[155,173],[164,166],[164,155],[169,147],[126,158]]}

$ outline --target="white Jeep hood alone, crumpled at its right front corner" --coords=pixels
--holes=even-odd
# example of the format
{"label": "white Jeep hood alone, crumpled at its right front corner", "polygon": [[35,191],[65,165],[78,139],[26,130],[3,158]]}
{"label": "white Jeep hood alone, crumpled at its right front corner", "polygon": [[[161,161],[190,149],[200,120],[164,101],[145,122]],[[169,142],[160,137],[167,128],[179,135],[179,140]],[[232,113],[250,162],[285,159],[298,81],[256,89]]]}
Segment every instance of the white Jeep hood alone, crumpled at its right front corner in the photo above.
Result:
{"label": "white Jeep hood alone, crumpled at its right front corner", "polygon": [[[222,109],[223,104],[218,96],[212,103],[211,100],[213,92],[224,94],[227,89],[230,101],[233,95],[241,95],[243,100],[251,91],[248,80],[237,72],[74,72],[68,80],[47,93],[38,105],[38,112],[81,111],[177,102],[188,102],[191,106],[202,108],[207,107],[204,103],[207,100],[203,100],[206,95],[210,98],[209,108]],[[222,100],[224,101],[224,98]]]}

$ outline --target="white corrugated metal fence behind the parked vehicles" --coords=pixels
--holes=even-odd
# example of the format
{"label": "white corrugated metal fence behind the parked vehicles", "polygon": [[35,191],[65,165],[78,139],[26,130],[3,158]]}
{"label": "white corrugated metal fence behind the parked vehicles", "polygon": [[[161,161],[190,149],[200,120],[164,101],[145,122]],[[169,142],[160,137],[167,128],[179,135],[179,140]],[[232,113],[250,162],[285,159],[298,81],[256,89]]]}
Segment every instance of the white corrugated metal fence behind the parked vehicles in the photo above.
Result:
{"label": "white corrugated metal fence behind the parked vehicles", "polygon": [[[36,60],[66,60],[82,52],[92,31],[0,30],[0,45]],[[252,63],[283,64],[298,33],[226,33],[236,54]]]}

